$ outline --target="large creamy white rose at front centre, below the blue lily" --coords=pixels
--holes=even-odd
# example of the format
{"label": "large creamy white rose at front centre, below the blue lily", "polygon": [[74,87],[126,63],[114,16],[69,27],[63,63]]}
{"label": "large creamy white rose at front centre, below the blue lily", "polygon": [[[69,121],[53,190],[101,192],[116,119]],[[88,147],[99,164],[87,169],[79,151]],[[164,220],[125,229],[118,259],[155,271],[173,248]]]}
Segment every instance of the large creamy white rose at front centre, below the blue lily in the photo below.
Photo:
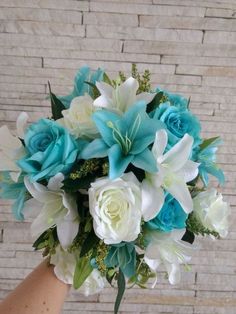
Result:
{"label": "large creamy white rose at front centre, below the blue lily", "polygon": [[89,208],[96,235],[106,244],[134,241],[140,233],[140,184],[133,173],[98,179],[89,189]]}

